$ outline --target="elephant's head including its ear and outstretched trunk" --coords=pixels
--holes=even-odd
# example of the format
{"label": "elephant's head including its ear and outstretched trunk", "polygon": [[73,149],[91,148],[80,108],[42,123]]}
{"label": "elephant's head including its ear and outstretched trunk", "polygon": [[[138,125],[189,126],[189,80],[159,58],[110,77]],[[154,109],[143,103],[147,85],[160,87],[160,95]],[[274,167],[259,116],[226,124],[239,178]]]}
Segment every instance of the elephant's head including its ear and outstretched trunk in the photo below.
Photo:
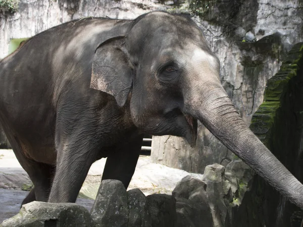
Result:
{"label": "elephant's head including its ear and outstretched trunk", "polygon": [[195,145],[197,120],[274,188],[303,208],[303,185],[242,121],[220,83],[220,62],[189,18],[154,12],[99,45],[91,87],[129,105],[134,125]]}

